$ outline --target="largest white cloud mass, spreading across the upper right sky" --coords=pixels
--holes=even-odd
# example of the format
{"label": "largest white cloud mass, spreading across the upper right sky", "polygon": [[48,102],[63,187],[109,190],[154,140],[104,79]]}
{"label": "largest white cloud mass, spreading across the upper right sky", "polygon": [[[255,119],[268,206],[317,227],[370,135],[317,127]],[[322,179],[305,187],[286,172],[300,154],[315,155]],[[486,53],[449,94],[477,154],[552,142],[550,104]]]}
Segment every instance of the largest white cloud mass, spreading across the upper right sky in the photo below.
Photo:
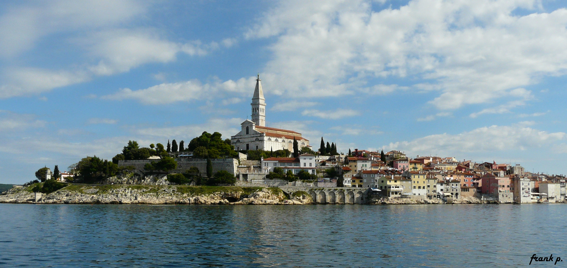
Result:
{"label": "largest white cloud mass, spreading across the upper right sky", "polygon": [[393,77],[429,79],[412,88],[438,91],[430,101],[438,109],[512,99],[477,116],[524,105],[514,88],[567,72],[567,10],[538,8],[536,0],[414,0],[373,12],[369,1],[284,1],[244,36],[277,39],[264,77],[276,94],[404,90],[379,82]]}

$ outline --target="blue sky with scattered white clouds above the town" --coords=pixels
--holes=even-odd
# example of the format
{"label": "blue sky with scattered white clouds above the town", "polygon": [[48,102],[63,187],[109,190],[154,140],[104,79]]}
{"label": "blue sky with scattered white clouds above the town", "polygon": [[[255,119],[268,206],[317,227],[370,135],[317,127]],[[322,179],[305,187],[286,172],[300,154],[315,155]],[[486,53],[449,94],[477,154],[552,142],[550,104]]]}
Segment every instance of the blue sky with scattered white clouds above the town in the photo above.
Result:
{"label": "blue sky with scattered white clouds above the town", "polygon": [[567,3],[2,1],[0,183],[266,126],[567,174]]}

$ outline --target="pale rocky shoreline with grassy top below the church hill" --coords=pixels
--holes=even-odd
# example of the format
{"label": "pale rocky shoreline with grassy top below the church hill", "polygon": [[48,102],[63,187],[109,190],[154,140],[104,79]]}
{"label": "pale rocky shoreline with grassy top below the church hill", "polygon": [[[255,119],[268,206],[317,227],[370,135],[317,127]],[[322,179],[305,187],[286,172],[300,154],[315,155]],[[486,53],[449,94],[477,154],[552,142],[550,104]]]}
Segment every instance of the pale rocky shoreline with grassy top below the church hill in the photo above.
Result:
{"label": "pale rocky shoreline with grassy top below the church hill", "polygon": [[187,185],[68,185],[35,200],[32,186],[10,189],[0,203],[307,205],[308,195],[287,197],[279,188]]}

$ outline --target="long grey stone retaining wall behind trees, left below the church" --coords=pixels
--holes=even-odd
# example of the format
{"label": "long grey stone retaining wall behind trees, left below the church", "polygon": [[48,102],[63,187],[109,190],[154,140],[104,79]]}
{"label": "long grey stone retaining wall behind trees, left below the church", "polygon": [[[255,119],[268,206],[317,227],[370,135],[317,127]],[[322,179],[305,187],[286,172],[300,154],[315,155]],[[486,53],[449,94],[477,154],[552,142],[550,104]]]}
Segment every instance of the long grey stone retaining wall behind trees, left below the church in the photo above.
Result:
{"label": "long grey stone retaining wall behind trees, left below the church", "polygon": [[[197,167],[202,174],[206,173],[207,170],[207,160],[197,159],[197,158],[177,158],[177,168],[172,172],[181,173],[186,171],[191,167]],[[154,161],[159,161],[159,159],[145,159],[145,160],[120,160],[119,167],[133,166],[139,171],[143,171],[143,166],[147,163]],[[211,159],[213,163],[213,174],[217,171],[228,171],[233,175],[236,175],[236,168],[238,167],[238,159],[235,158],[223,158],[223,159]]]}

